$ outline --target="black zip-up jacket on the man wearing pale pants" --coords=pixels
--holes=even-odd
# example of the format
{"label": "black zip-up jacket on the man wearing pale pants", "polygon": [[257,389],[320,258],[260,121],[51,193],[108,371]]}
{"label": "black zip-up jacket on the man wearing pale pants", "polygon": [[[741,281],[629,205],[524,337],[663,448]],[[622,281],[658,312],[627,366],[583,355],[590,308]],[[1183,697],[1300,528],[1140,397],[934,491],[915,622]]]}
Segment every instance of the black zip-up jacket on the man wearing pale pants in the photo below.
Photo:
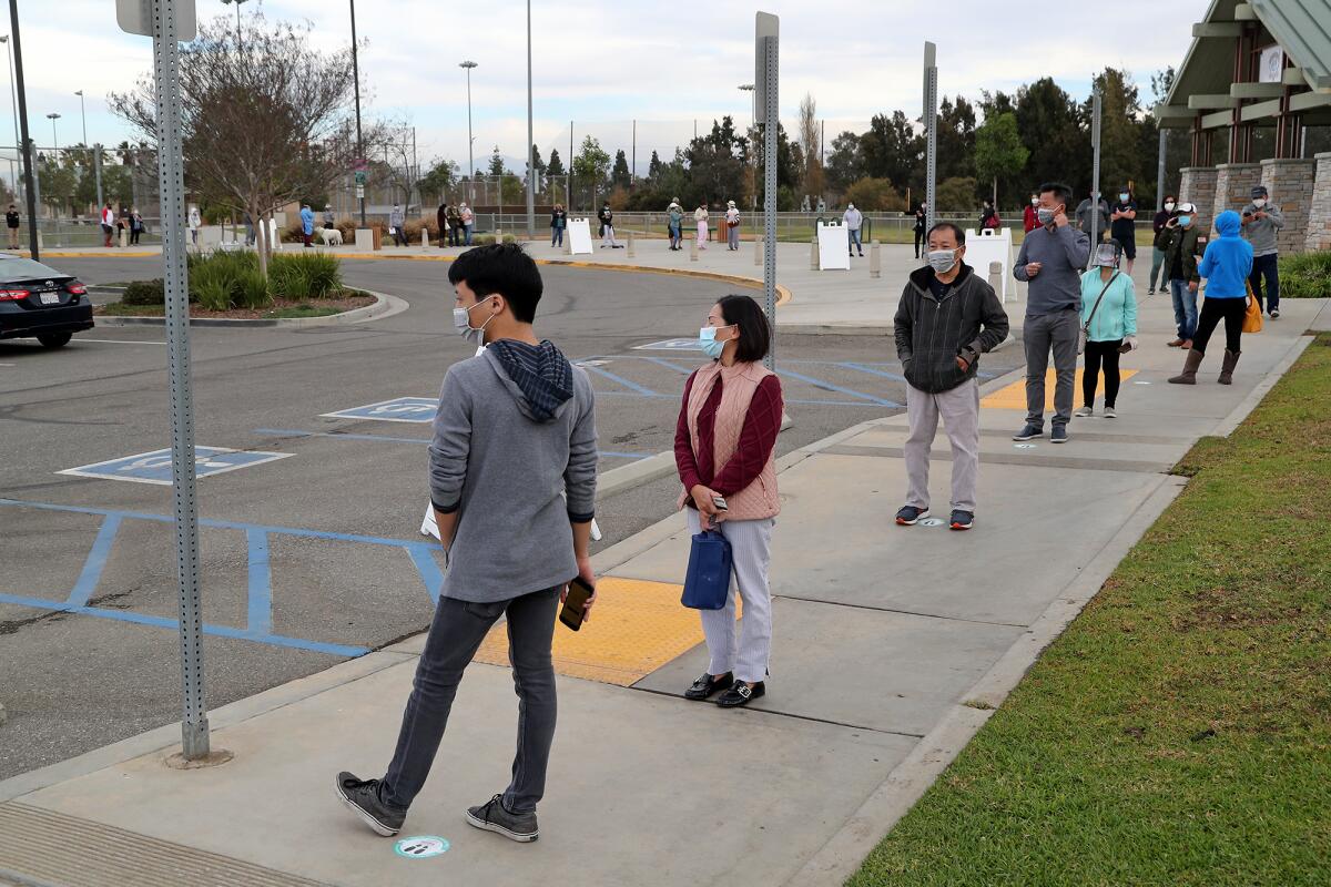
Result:
{"label": "black zip-up jacket on the man wearing pale pants", "polygon": [[[929,289],[933,269],[912,271],[893,323],[906,382],[929,394],[950,391],[980,368],[980,355],[1008,338],[1008,313],[994,289],[962,263],[942,299]],[[962,356],[969,364],[957,366]]]}

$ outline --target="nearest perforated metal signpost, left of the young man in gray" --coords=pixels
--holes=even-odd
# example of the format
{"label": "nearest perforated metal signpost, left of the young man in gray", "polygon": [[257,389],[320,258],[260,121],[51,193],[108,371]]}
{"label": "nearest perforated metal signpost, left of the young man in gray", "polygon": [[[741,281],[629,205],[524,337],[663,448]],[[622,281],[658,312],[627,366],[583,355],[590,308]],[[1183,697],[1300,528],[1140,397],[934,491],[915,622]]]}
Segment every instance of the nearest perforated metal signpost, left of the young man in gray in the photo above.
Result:
{"label": "nearest perforated metal signpost, left of the young man in gray", "polygon": [[184,678],[181,746],[186,761],[209,753],[204,703],[202,606],[198,582],[198,503],[194,497],[194,402],[189,372],[189,279],[185,265],[185,164],[181,157],[180,44],[176,0],[152,0],[157,82],[157,184],[161,188],[166,351],[172,392],[172,493]]}

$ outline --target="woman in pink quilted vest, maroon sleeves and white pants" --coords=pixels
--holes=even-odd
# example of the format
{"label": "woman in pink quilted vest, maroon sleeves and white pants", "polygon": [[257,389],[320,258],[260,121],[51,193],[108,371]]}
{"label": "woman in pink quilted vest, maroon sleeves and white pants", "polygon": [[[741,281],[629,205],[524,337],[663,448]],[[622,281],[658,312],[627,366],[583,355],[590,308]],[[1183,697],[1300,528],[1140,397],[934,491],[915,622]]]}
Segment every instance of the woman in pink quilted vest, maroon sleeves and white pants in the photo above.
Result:
{"label": "woman in pink quilted vest, maroon sleeves and white pants", "polygon": [[[684,696],[724,707],[767,693],[772,652],[772,528],[776,435],[781,430],[781,382],[763,367],[772,334],[767,315],[747,295],[728,295],[699,334],[712,360],[689,376],[675,430],[675,461],[684,484],[680,508],[691,533],[716,528],[731,543],[744,618],[735,626],[735,592],[719,610],[700,610],[711,665]],[[724,508],[721,508],[724,505]],[[737,637],[736,637],[737,634]],[[736,644],[737,641],[737,644]]]}

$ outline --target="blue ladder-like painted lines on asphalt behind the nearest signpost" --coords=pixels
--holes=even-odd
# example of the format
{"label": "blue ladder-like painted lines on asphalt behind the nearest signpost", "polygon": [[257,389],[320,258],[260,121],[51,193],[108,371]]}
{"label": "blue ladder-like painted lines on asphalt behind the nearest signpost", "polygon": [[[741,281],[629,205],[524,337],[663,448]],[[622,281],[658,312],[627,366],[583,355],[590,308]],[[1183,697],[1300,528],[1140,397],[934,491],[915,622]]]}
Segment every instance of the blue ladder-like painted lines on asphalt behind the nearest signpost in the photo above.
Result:
{"label": "blue ladder-like painted lines on asphalt behind the nearest signpost", "polygon": [[[0,602],[61,613],[76,613],[121,622],[133,622],[154,628],[178,629],[178,622],[176,620],[88,605],[88,602],[93,600],[97,590],[97,584],[101,580],[101,573],[105,569],[108,556],[114,544],[116,532],[120,525],[128,520],[172,524],[176,520],[174,517],[145,512],[117,511],[112,508],[59,505],[55,503],[27,501],[17,499],[0,499],[0,507],[35,508],[39,511],[77,515],[100,515],[104,519],[101,529],[97,533],[97,539],[93,541],[93,548],[84,564],[84,569],[75,586],[71,589],[69,596],[64,601],[52,601],[25,594],[0,593]],[[439,569],[438,564],[435,564],[431,553],[438,549],[438,545],[430,541],[383,539],[378,536],[359,536],[355,533],[334,533],[329,531],[305,529],[298,527],[272,527],[265,524],[248,524],[242,521],[212,519],[200,519],[198,525],[241,531],[245,533],[248,549],[246,570],[249,581],[246,588],[245,608],[246,625],[244,629],[238,629],[229,625],[205,624],[205,634],[253,641],[256,644],[266,644],[270,646],[311,650],[315,653],[327,653],[330,656],[341,657],[357,657],[369,653],[369,648],[363,646],[333,644],[313,638],[289,637],[273,633],[273,572],[270,561],[270,539],[273,536],[334,540],[402,549],[421,577],[426,594],[429,594],[433,602],[438,604],[439,601],[439,589],[443,586],[443,572]]]}

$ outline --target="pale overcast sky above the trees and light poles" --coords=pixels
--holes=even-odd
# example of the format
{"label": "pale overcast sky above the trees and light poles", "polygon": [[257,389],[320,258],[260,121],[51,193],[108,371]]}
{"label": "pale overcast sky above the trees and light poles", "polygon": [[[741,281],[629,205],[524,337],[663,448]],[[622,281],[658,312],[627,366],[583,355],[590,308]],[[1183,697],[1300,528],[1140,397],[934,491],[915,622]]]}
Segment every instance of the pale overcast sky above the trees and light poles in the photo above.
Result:
{"label": "pale overcast sky above the trees and light poles", "polygon": [[[869,117],[902,109],[920,114],[922,41],[938,44],[938,84],[945,94],[977,98],[981,89],[1013,90],[1053,76],[1083,97],[1106,65],[1126,68],[1150,98],[1150,74],[1178,65],[1205,0],[1071,3],[978,0],[534,0],[535,142],[568,152],[591,132],[614,153],[631,148],[639,120],[638,164],[652,149],[663,157],[733,114],[744,126],[753,80],[753,12],[781,17],[781,118],[793,125],[808,92],[827,120],[827,141],[861,130]],[[88,140],[117,144],[125,126],[106,110],[109,90],[126,89],[149,69],[150,40],[121,33],[113,0],[19,3],[28,86],[28,116],[39,144],[83,140],[79,97],[88,100]],[[350,45],[342,0],[246,0],[249,15],[307,20],[318,49]],[[228,16],[233,5],[197,0],[200,17]],[[473,72],[476,166],[498,144],[508,157],[526,144],[526,13],[520,0],[362,0],[357,28],[367,114],[405,118],[417,128],[422,165],[437,156],[467,169],[467,97],[458,63]],[[8,19],[0,17],[7,23]],[[7,24],[0,24],[7,32]],[[7,140],[12,141],[12,136]],[[516,164],[514,164],[516,165]]]}

